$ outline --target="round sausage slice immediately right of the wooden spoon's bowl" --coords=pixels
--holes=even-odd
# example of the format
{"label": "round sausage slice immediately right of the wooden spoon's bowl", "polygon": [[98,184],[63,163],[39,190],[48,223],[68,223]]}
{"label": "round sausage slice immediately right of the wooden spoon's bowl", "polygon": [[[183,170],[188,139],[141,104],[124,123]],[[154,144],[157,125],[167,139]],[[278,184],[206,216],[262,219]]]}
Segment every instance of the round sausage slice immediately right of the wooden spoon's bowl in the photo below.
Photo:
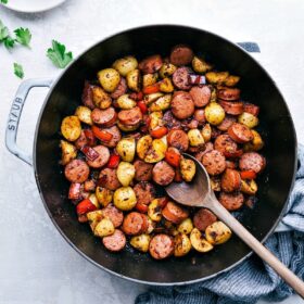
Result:
{"label": "round sausage slice immediately right of the wooden spoon's bowl", "polygon": [[225,156],[217,150],[205,153],[202,157],[202,164],[210,175],[218,175],[226,169]]}

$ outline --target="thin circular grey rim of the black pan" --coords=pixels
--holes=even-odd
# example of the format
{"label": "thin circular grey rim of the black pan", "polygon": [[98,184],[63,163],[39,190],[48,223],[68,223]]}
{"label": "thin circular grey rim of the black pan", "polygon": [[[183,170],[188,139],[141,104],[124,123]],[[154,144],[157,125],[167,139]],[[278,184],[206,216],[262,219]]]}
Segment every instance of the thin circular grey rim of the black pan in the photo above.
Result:
{"label": "thin circular grey rim of the black pan", "polygon": [[176,28],[186,28],[189,30],[198,30],[198,31],[204,31],[207,35],[214,36],[216,38],[218,38],[219,40],[224,40],[226,43],[230,45],[231,47],[235,47],[237,49],[239,49],[244,55],[250,56],[250,59],[256,64],[258,65],[258,67],[265,73],[265,75],[269,78],[269,80],[271,81],[274,88],[278,91],[279,96],[281,97],[284,106],[287,109],[288,112],[288,116],[290,118],[290,123],[291,123],[291,127],[292,127],[292,139],[294,140],[295,147],[294,147],[294,165],[293,165],[293,174],[292,174],[292,180],[289,187],[289,191],[287,193],[287,200],[282,206],[282,210],[277,218],[277,220],[274,223],[274,225],[271,226],[271,228],[269,229],[269,231],[266,233],[266,236],[262,239],[261,243],[265,243],[265,241],[270,237],[270,235],[273,235],[274,230],[276,229],[276,227],[278,226],[278,224],[280,223],[281,218],[283,217],[287,206],[288,206],[288,202],[289,202],[289,198],[291,194],[291,190],[293,189],[294,182],[295,182],[295,174],[296,174],[296,164],[297,164],[297,140],[296,140],[296,131],[295,131],[295,127],[294,127],[294,123],[288,106],[288,103],[286,102],[286,99],[283,98],[283,94],[281,93],[280,89],[278,88],[278,86],[276,85],[276,83],[274,81],[273,77],[269,75],[269,73],[262,66],[262,64],[255,59],[253,58],[248,51],[245,51],[244,49],[242,49],[240,46],[238,46],[237,43],[224,38],[223,36],[219,36],[215,33],[212,33],[210,30],[206,29],[202,29],[199,27],[194,27],[194,26],[189,26],[189,25],[183,25],[183,24],[150,24],[150,25],[142,25],[142,26],[136,26],[136,27],[130,27],[121,31],[117,31],[115,34],[109,35],[106,37],[104,37],[102,40],[93,43],[91,47],[87,48],[86,50],[84,50],[80,54],[78,54],[74,61],[66,67],[64,68],[59,76],[56,76],[55,80],[52,83],[52,86],[49,89],[49,92],[47,94],[47,97],[45,98],[45,101],[42,103],[38,119],[37,119],[37,124],[36,124],[36,129],[35,129],[35,136],[34,136],[34,145],[33,145],[33,166],[34,166],[34,174],[35,174],[35,179],[36,179],[36,183],[37,183],[37,188],[39,191],[39,195],[42,200],[43,206],[50,217],[50,219],[52,220],[53,225],[55,226],[56,230],[60,232],[60,235],[65,239],[65,241],[78,253],[80,254],[83,257],[85,257],[87,261],[89,261],[91,264],[93,264],[94,266],[97,266],[98,268],[101,268],[102,270],[114,275],[118,278],[122,279],[126,279],[128,281],[132,281],[136,283],[141,283],[141,284],[147,284],[147,286],[161,286],[161,287],[173,287],[173,286],[186,286],[186,284],[191,284],[191,283],[197,283],[197,282],[201,282],[201,281],[205,281],[208,279],[212,279],[220,274],[224,274],[226,271],[229,271],[230,269],[232,269],[233,267],[238,266],[239,264],[241,264],[244,259],[246,259],[248,257],[250,257],[254,252],[251,250],[248,254],[245,254],[242,258],[240,258],[238,262],[236,262],[235,264],[230,265],[229,267],[219,270],[213,275],[210,275],[207,277],[203,277],[203,278],[199,278],[199,279],[194,279],[194,280],[188,280],[188,281],[178,281],[178,282],[156,282],[156,281],[147,281],[147,280],[140,280],[140,279],[135,279],[135,278],[130,278],[127,277],[125,275],[121,275],[117,274],[106,267],[104,267],[103,265],[100,265],[99,263],[97,263],[96,261],[93,261],[91,257],[87,256],[86,253],[84,253],[80,249],[78,249],[69,239],[68,237],[64,233],[64,231],[60,228],[60,226],[58,225],[56,220],[53,218],[47,202],[45,201],[43,194],[42,194],[42,190],[40,188],[40,181],[39,181],[39,177],[38,177],[38,172],[37,172],[37,157],[36,157],[36,151],[37,151],[37,141],[38,141],[38,132],[39,132],[39,127],[40,127],[40,123],[41,123],[41,117],[42,114],[45,112],[45,109],[48,104],[49,98],[52,94],[53,90],[55,89],[56,85],[59,84],[59,81],[61,80],[62,76],[73,66],[77,63],[77,61],[85,55],[85,53],[89,52],[90,50],[92,50],[93,48],[96,48],[98,45],[104,42],[107,39],[111,39],[117,35],[122,35],[122,34],[126,34],[127,31],[132,31],[132,30],[137,30],[137,29],[147,29],[147,28],[151,28],[151,27],[176,27]]}

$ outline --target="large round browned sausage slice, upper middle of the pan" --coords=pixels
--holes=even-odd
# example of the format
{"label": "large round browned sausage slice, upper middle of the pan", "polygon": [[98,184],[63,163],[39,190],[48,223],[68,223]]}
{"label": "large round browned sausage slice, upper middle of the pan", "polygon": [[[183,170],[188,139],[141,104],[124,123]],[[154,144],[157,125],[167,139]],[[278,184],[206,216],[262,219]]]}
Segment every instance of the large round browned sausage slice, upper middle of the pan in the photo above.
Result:
{"label": "large round browned sausage slice, upper middle of the pan", "polygon": [[178,91],[174,94],[172,113],[178,119],[185,119],[193,115],[194,102],[188,92]]}

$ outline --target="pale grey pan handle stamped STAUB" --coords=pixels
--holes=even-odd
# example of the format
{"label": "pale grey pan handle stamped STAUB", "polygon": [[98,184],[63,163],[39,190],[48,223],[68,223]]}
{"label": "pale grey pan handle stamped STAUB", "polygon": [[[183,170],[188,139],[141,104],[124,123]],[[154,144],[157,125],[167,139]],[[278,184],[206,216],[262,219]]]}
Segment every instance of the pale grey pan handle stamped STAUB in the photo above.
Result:
{"label": "pale grey pan handle stamped STAUB", "polygon": [[33,165],[33,156],[24,152],[22,149],[20,149],[16,143],[18,123],[20,123],[23,105],[31,88],[51,87],[52,83],[53,83],[52,78],[37,78],[37,79],[34,78],[34,79],[27,79],[23,81],[16,91],[9,114],[7,132],[5,132],[7,148],[12,154],[16,155],[18,159],[21,159],[28,165]]}

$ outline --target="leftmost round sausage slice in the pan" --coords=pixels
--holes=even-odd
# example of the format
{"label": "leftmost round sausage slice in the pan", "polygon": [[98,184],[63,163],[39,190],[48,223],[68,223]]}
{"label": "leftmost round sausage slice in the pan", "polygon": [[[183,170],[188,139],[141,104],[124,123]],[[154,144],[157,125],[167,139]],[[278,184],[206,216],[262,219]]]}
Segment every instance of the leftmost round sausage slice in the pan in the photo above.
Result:
{"label": "leftmost round sausage slice in the pan", "polygon": [[71,182],[84,182],[88,179],[90,168],[85,161],[73,160],[64,168],[64,175]]}

